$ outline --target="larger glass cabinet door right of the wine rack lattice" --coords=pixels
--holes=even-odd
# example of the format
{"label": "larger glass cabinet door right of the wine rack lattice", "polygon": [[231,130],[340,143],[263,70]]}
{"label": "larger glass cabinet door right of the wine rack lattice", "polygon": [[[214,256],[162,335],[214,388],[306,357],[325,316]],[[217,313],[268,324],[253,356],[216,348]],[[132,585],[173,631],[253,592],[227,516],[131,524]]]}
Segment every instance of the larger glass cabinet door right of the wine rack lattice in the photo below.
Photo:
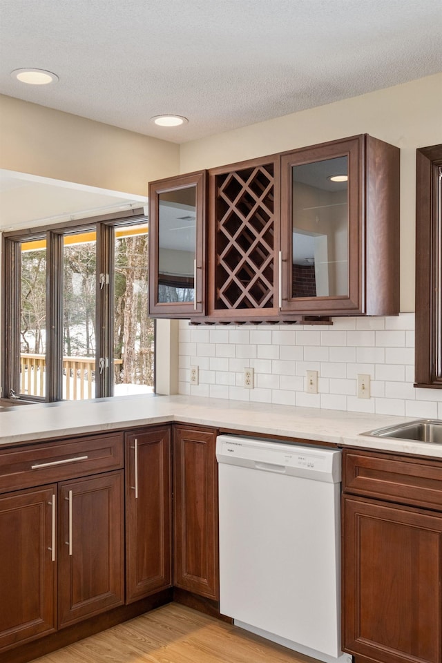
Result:
{"label": "larger glass cabinet door right of the wine rack lattice", "polygon": [[355,139],[282,156],[282,310],[357,307],[358,155]]}

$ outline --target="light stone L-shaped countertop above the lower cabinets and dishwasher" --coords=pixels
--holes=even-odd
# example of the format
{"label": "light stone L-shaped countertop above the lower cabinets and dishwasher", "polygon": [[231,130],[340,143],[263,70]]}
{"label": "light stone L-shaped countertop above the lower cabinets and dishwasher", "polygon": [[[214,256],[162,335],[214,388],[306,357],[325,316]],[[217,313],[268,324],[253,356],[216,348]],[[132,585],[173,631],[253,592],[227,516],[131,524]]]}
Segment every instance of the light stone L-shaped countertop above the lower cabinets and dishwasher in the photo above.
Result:
{"label": "light stone L-shaped countertop above the lower cabinets and dishwasher", "polygon": [[442,445],[361,436],[412,417],[361,414],[195,396],[120,396],[0,410],[0,448],[171,421],[442,458]]}

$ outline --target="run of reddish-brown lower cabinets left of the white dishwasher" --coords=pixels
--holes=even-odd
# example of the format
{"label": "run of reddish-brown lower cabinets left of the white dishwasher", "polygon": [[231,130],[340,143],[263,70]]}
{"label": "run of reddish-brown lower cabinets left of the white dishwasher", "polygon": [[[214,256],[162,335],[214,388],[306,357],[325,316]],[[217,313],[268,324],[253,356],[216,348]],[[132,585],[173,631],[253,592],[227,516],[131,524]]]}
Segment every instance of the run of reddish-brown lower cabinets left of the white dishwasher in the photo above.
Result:
{"label": "run of reddish-brown lower cabinets left of the white dishwasher", "polygon": [[0,659],[173,586],[218,600],[215,442],[157,425],[0,450]]}

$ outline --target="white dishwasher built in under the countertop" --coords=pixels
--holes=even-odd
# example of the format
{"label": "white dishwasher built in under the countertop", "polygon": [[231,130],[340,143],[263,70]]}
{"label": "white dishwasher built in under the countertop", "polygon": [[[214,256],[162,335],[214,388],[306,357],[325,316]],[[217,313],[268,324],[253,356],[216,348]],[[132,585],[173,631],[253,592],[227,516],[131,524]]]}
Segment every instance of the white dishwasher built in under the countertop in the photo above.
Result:
{"label": "white dishwasher built in under the countertop", "polygon": [[326,663],[340,651],[341,452],[220,435],[220,611]]}

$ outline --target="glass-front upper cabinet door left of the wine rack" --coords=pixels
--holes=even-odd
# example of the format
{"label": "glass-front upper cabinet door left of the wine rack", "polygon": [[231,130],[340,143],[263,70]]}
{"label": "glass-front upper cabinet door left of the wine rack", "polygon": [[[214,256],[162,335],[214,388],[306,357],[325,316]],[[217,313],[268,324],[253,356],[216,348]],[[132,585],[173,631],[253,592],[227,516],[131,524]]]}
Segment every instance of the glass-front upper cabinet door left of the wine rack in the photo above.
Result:
{"label": "glass-front upper cabinet door left of the wine rack", "polygon": [[149,184],[149,314],[205,313],[206,171]]}

